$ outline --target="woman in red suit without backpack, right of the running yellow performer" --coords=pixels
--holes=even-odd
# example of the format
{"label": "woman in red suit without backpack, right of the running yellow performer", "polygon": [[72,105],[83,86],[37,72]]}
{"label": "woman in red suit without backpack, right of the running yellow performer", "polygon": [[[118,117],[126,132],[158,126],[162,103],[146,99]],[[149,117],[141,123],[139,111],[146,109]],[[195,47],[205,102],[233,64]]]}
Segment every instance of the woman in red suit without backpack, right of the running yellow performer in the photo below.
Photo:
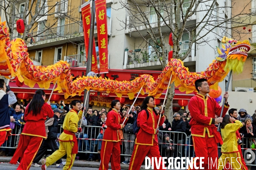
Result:
{"label": "woman in red suit without backpack, right of the running yellow performer", "polygon": [[[112,170],[120,170],[120,144],[121,144],[121,137],[119,133],[119,129],[124,127],[124,119],[121,119],[120,114],[118,111],[121,108],[121,104],[119,100],[113,100],[111,102],[112,110],[107,114],[106,125],[107,129],[105,130],[103,141],[102,141],[102,149],[100,153],[101,163],[99,166],[99,170],[108,170],[108,162],[111,158],[111,168]],[[128,116],[126,115],[128,120]]]}

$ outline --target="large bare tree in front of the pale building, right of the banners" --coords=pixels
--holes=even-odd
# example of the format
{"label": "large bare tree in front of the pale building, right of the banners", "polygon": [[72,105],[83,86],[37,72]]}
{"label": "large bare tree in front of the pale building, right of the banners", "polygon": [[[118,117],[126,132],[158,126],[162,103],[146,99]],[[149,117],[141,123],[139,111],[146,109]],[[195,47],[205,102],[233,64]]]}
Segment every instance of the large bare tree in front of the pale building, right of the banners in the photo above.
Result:
{"label": "large bare tree in front of the pale building, right of the banners", "polygon": [[[220,4],[217,0],[119,0],[119,2],[122,4],[122,8],[125,8],[132,16],[126,27],[130,32],[137,31],[145,44],[152,43],[148,38],[153,41],[152,48],[157,52],[162,69],[166,66],[166,59],[163,57],[161,61],[160,57],[168,56],[167,51],[163,49],[168,44],[166,36],[169,36],[170,33],[173,35],[174,42],[173,58],[183,61],[191,53],[192,47],[209,45],[211,40],[221,41],[223,36],[231,37],[231,24],[241,24],[251,17],[250,13],[244,12],[250,2],[241,6],[239,14],[231,14],[232,4],[234,5],[236,0],[233,0],[232,3],[231,0],[218,1]],[[150,12],[146,12],[148,7],[153,9],[150,12],[156,15],[154,23],[151,21]],[[195,14],[199,15],[196,19]],[[125,23],[122,20],[120,22]],[[146,31],[140,31],[141,26],[144,26]],[[165,30],[163,30],[163,26],[165,26]],[[186,51],[180,53],[183,33],[188,33],[189,41],[186,42]],[[215,46],[212,48],[215,49]],[[174,89],[175,86],[172,83],[167,91],[165,113],[170,121],[173,118]]]}

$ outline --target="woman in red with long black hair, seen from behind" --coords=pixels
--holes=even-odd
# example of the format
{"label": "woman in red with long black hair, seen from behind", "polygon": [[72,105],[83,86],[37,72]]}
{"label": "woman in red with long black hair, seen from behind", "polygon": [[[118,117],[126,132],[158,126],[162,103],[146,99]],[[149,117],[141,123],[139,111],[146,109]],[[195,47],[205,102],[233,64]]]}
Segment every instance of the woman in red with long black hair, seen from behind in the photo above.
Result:
{"label": "woman in red with long black hair, seen from behind", "polygon": [[42,141],[46,139],[44,121],[47,116],[53,117],[53,111],[49,103],[45,103],[44,100],[44,91],[37,90],[25,111],[26,124],[21,133],[17,150],[10,161],[11,164],[17,164],[17,160],[20,158],[20,165],[17,170],[30,168]]}

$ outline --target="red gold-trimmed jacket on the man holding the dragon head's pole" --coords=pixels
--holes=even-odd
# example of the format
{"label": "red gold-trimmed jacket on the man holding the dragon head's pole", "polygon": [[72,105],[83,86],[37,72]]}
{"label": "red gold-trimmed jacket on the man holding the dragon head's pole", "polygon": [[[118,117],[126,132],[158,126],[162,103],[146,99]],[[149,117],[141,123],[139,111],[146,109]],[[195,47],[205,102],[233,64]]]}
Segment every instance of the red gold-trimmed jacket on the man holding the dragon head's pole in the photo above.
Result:
{"label": "red gold-trimmed jacket on the man holding the dragon head's pole", "polygon": [[[222,117],[225,116],[229,105],[225,104]],[[217,132],[215,124],[215,115],[221,116],[221,106],[216,100],[210,96],[204,97],[201,94],[196,94],[189,101],[189,111],[191,115],[191,135],[205,137],[208,133],[209,137],[213,137]],[[218,133],[219,134],[219,133]]]}

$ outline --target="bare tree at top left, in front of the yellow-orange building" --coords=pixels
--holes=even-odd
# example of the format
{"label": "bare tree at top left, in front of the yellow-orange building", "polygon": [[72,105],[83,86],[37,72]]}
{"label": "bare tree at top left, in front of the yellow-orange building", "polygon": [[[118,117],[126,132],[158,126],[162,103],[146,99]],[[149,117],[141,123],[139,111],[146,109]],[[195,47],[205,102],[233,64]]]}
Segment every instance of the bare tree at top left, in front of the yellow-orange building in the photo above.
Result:
{"label": "bare tree at top left, in front of the yellow-orange building", "polygon": [[[40,37],[43,33],[56,34],[58,37],[63,36],[58,35],[56,30],[53,31],[51,29],[52,27],[56,27],[58,22],[58,20],[54,21],[53,18],[64,18],[71,22],[80,21],[80,15],[79,17],[75,17],[73,14],[76,8],[74,6],[71,7],[68,1],[69,0],[60,0],[59,2],[55,2],[55,0],[26,0],[23,11],[20,11],[17,7],[19,5],[18,0],[0,0],[0,10],[5,11],[6,23],[9,27],[11,40],[15,37],[13,35],[15,23],[19,18],[23,19],[25,26],[25,31],[22,36],[23,40],[27,40],[31,37]],[[17,12],[18,14],[16,14]],[[47,21],[51,22],[46,22],[46,17],[50,17]],[[37,31],[37,23],[39,22],[43,24],[44,29]],[[32,32],[34,32],[34,34],[31,34]]]}

